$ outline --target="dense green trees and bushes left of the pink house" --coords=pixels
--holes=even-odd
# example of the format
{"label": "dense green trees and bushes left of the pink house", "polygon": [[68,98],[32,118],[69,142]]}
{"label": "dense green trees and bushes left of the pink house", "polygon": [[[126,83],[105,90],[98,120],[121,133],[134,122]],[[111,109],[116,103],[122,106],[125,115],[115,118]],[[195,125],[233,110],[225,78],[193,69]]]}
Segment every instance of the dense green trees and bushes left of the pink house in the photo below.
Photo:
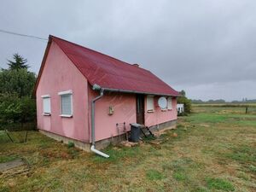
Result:
{"label": "dense green trees and bushes left of the pink house", "polygon": [[36,102],[32,91],[36,74],[22,56],[13,55],[7,69],[0,69],[0,130],[36,121]]}

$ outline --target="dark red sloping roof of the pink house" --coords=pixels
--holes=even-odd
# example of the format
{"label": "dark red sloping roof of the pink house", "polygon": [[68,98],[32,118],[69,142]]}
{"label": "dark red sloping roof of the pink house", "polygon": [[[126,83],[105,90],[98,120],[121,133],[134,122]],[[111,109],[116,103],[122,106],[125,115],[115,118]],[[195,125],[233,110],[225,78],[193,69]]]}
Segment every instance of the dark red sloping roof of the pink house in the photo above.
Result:
{"label": "dark red sloping roof of the pink house", "polygon": [[51,40],[58,44],[91,85],[153,95],[179,96],[176,90],[146,69],[61,38],[49,36],[49,41]]}

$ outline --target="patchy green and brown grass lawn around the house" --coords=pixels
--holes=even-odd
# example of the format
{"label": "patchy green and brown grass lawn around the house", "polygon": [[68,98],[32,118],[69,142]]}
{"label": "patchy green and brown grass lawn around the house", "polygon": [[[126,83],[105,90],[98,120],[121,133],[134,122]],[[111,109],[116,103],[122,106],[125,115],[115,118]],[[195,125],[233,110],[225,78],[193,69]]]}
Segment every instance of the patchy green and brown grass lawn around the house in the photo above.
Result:
{"label": "patchy green and brown grass lawn around the house", "polygon": [[0,191],[256,191],[256,114],[220,107],[194,112],[179,118],[160,145],[109,147],[109,159],[37,131],[27,143],[10,143],[0,133],[0,162],[24,158],[30,166],[27,176],[0,175]]}

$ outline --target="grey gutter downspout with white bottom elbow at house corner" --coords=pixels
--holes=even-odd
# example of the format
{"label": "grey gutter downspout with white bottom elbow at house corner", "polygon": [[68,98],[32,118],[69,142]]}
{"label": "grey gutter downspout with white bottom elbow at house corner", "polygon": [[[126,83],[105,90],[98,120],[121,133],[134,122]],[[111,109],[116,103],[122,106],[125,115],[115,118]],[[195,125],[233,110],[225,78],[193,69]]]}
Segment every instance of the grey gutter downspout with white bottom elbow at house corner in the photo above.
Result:
{"label": "grey gutter downspout with white bottom elbow at house corner", "polygon": [[102,96],[104,94],[104,90],[97,84],[94,84],[92,89],[93,90],[101,90],[101,95],[96,96],[91,102],[91,142],[92,142],[92,145],[90,147],[90,150],[96,154],[101,155],[102,157],[108,158],[109,157],[108,154],[104,154],[95,148],[95,102],[98,99],[102,98]]}

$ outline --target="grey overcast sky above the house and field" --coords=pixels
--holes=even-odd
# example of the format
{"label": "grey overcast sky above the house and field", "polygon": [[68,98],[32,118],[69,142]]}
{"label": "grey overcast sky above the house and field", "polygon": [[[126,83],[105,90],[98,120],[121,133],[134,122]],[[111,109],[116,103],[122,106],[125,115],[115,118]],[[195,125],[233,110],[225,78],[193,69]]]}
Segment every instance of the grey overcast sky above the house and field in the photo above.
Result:
{"label": "grey overcast sky above the house and field", "polygon": [[[66,3],[67,2],[67,3]],[[65,38],[139,63],[193,99],[256,98],[256,1],[1,1],[0,29]],[[0,33],[38,73],[46,41]]]}

